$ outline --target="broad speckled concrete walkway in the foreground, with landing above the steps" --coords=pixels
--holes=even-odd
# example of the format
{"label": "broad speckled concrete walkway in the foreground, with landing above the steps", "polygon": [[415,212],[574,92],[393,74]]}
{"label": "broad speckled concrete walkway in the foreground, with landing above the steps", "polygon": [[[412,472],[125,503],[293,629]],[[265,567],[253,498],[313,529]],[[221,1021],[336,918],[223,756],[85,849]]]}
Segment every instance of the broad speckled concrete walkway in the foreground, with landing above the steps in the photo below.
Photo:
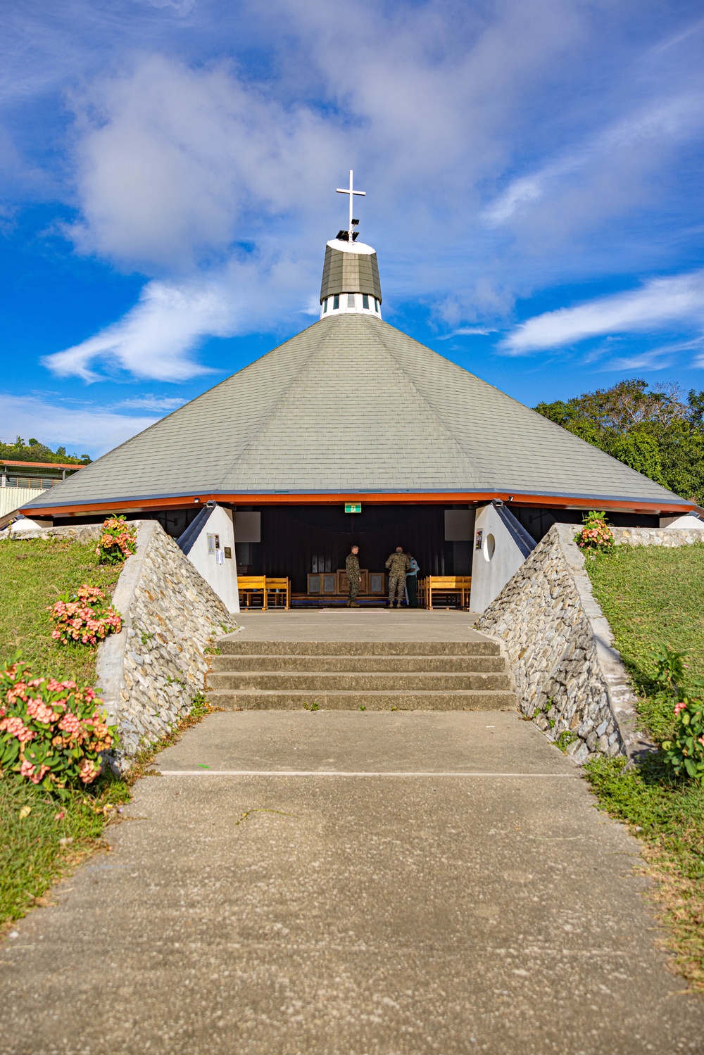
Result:
{"label": "broad speckled concrete walkway in the foreground, with landing above the steps", "polygon": [[638,844],[517,714],[222,712],[155,769],[4,943],[3,1055],[704,1051]]}

